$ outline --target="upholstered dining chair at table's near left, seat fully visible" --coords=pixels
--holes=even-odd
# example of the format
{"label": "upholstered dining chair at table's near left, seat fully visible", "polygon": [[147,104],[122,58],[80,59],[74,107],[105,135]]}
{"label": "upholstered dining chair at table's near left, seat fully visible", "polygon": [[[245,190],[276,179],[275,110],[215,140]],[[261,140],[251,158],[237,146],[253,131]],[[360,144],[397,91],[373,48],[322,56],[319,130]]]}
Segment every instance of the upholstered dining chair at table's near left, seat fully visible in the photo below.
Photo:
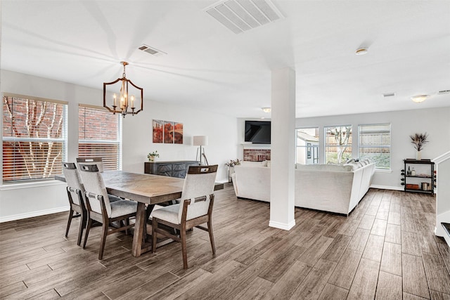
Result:
{"label": "upholstered dining chair at table's near left, seat fully visible", "polygon": [[[103,177],[100,171],[98,171],[96,164],[79,164],[79,173],[84,183],[84,197],[87,211],[87,225],[83,248],[86,248],[92,221],[102,223],[98,259],[103,259],[106,237],[118,231],[125,231],[127,233],[128,229],[134,226],[134,223],[129,223],[129,218],[136,217],[137,202],[131,200],[110,202]],[[117,221],[119,227],[113,227],[112,223],[115,221]],[[124,225],[122,221],[125,221]]]}

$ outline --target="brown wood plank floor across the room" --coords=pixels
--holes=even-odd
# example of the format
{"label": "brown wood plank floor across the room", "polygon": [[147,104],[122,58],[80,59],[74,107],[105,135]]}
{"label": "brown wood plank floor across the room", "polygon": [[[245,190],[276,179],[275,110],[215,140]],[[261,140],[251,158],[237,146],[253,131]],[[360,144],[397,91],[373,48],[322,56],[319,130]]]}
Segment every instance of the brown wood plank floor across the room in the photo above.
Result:
{"label": "brown wood plank floor across the room", "polygon": [[450,250],[433,234],[435,197],[371,189],[349,217],[295,209],[268,227],[269,204],[216,192],[212,255],[203,230],[131,256],[131,236],[100,228],[78,247],[68,213],[0,224],[1,299],[450,299]]}

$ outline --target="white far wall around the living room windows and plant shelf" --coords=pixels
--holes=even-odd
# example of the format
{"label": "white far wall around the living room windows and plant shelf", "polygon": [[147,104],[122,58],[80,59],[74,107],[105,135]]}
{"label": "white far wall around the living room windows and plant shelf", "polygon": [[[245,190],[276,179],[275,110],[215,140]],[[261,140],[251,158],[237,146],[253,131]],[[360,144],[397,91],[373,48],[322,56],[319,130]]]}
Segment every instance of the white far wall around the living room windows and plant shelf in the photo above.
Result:
{"label": "white far wall around the living room windows and plant shelf", "polygon": [[[428,99],[428,101],[432,101]],[[420,105],[420,103],[418,104]],[[397,112],[374,112],[359,115],[340,115],[331,117],[311,117],[296,120],[296,128],[319,127],[320,147],[319,163],[323,164],[323,127],[341,124],[353,126],[353,157],[358,157],[358,139],[356,133],[359,124],[391,124],[391,169],[392,171],[376,171],[372,186],[403,190],[400,184],[400,170],[403,159],[416,158],[416,150],[409,136],[413,133],[429,134],[430,141],[422,150],[423,159],[433,159],[450,150],[450,107],[423,110],[403,110]]]}

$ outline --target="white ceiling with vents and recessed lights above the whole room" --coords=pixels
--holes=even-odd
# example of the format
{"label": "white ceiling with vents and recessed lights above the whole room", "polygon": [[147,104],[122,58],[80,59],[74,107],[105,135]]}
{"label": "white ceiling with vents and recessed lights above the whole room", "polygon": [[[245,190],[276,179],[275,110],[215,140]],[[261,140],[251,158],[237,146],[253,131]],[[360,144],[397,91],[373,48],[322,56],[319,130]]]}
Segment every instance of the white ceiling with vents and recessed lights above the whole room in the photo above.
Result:
{"label": "white ceiling with vents and recessed lights above the whole room", "polygon": [[450,1],[274,0],[285,18],[241,34],[203,11],[214,2],[2,0],[1,68],[102,89],[126,60],[146,100],[236,117],[270,117],[282,67],[297,117],[450,106]]}

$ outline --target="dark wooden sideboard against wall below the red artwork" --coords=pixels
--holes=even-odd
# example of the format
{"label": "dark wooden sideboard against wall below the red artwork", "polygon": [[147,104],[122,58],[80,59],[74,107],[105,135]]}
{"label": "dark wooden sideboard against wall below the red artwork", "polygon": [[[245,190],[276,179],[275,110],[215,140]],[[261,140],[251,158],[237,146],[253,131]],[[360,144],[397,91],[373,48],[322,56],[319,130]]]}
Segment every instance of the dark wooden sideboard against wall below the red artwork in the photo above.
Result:
{"label": "dark wooden sideboard against wall below the red artwork", "polygon": [[146,162],[144,165],[145,174],[171,176],[177,178],[186,177],[189,166],[198,166],[195,160],[178,160],[172,162]]}

